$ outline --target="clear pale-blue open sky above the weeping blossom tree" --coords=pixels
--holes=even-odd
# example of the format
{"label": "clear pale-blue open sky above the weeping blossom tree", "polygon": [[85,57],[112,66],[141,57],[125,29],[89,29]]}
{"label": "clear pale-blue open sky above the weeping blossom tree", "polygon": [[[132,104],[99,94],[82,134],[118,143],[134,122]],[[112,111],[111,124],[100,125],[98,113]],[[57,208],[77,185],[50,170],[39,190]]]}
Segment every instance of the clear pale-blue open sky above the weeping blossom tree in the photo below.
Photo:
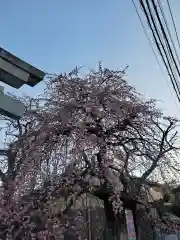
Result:
{"label": "clear pale-blue open sky above the weeping blossom tree", "polygon": [[[180,34],[179,0],[171,0]],[[50,73],[76,65],[129,65],[127,79],[146,97],[160,100],[166,114],[180,117],[172,94],[144,35],[131,0],[6,0],[1,2],[0,45]],[[17,94],[36,95],[43,83]],[[180,108],[179,108],[180,109]]]}

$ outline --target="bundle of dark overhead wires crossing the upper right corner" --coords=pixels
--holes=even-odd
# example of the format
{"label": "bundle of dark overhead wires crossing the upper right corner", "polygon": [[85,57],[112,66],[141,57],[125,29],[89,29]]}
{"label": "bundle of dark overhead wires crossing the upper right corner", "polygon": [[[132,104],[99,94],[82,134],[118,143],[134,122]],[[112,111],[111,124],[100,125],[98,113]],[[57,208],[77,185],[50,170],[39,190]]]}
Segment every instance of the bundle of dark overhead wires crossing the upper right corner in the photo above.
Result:
{"label": "bundle of dark overhead wires crossing the upper right corner", "polygon": [[[176,42],[178,44],[178,50],[173,40],[173,36],[170,31],[170,27],[168,25],[168,21],[160,0],[138,0],[137,2],[140,4],[140,7],[144,13],[148,27],[152,33],[153,42],[155,43],[158,53],[162,59],[162,63],[164,64],[165,69],[169,75],[176,97],[180,102],[180,83],[179,83],[180,58],[178,55],[178,50],[180,52],[180,41],[179,41],[173,13],[171,10],[170,2],[169,0],[166,0],[168,11],[170,13],[172,25],[175,32]],[[132,3],[135,7],[136,13],[138,14],[139,20],[143,26],[146,37],[149,40],[149,43],[156,57],[158,65],[162,69],[160,62],[158,60],[158,57],[156,55],[156,51],[153,48],[153,44],[149,38],[149,35],[147,34],[144,22],[141,18],[141,15],[139,13],[135,0],[132,0]]]}

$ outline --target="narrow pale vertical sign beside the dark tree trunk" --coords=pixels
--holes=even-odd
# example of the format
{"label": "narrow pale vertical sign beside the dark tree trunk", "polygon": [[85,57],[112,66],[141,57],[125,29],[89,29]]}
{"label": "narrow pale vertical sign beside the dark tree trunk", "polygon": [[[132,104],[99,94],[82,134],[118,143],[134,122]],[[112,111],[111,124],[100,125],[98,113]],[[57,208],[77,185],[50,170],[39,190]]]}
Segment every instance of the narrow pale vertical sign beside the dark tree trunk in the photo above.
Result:
{"label": "narrow pale vertical sign beside the dark tree trunk", "polygon": [[136,231],[135,231],[132,211],[126,209],[125,210],[125,215],[126,215],[128,240],[136,240]]}

